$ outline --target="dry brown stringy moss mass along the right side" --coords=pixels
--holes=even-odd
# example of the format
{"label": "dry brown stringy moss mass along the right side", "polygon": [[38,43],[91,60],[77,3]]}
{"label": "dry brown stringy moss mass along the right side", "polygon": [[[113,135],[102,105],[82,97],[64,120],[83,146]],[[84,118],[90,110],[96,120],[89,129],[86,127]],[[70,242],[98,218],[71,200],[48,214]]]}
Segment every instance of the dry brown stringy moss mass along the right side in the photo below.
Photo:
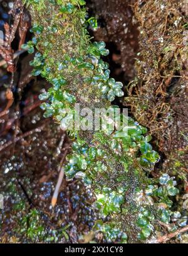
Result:
{"label": "dry brown stringy moss mass along the right side", "polygon": [[140,1],[135,22],[140,30],[137,77],[128,97],[135,118],[150,129],[163,154],[155,174],[167,172],[178,181],[175,207],[187,218],[182,198],[187,193],[187,9],[185,1]]}

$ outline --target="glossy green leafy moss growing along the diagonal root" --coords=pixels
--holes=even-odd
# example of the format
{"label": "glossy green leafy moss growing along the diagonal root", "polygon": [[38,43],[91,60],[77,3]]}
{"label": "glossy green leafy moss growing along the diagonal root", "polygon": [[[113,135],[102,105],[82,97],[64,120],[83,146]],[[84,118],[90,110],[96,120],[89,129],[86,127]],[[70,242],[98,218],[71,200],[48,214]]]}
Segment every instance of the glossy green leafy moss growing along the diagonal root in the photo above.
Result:
{"label": "glossy green leafy moss growing along the diagonal root", "polygon": [[[80,108],[108,109],[115,96],[123,95],[122,84],[110,78],[108,64],[101,58],[108,54],[105,43],[90,42],[84,1],[38,0],[28,4],[35,36],[28,50],[38,50],[31,65],[34,75],[40,74],[51,83],[49,91],[40,96],[46,99],[44,116],[53,116],[77,138],[67,157],[66,178],[82,179],[92,187],[98,197],[94,207],[103,221],[107,217],[111,223],[100,228],[108,242],[125,233],[128,242],[149,238],[155,228],[160,230],[159,223],[150,224],[147,216],[149,227],[142,229],[138,222],[141,206],[143,211],[152,208],[155,218],[159,215],[155,198],[159,195],[152,199],[143,192],[154,183],[145,172],[154,168],[159,154],[148,143],[147,129],[128,118],[128,133],[122,138],[118,134],[124,131],[114,127],[100,132],[69,130],[70,116],[62,111],[73,109],[75,102]],[[122,236],[127,241],[127,236]]]}

